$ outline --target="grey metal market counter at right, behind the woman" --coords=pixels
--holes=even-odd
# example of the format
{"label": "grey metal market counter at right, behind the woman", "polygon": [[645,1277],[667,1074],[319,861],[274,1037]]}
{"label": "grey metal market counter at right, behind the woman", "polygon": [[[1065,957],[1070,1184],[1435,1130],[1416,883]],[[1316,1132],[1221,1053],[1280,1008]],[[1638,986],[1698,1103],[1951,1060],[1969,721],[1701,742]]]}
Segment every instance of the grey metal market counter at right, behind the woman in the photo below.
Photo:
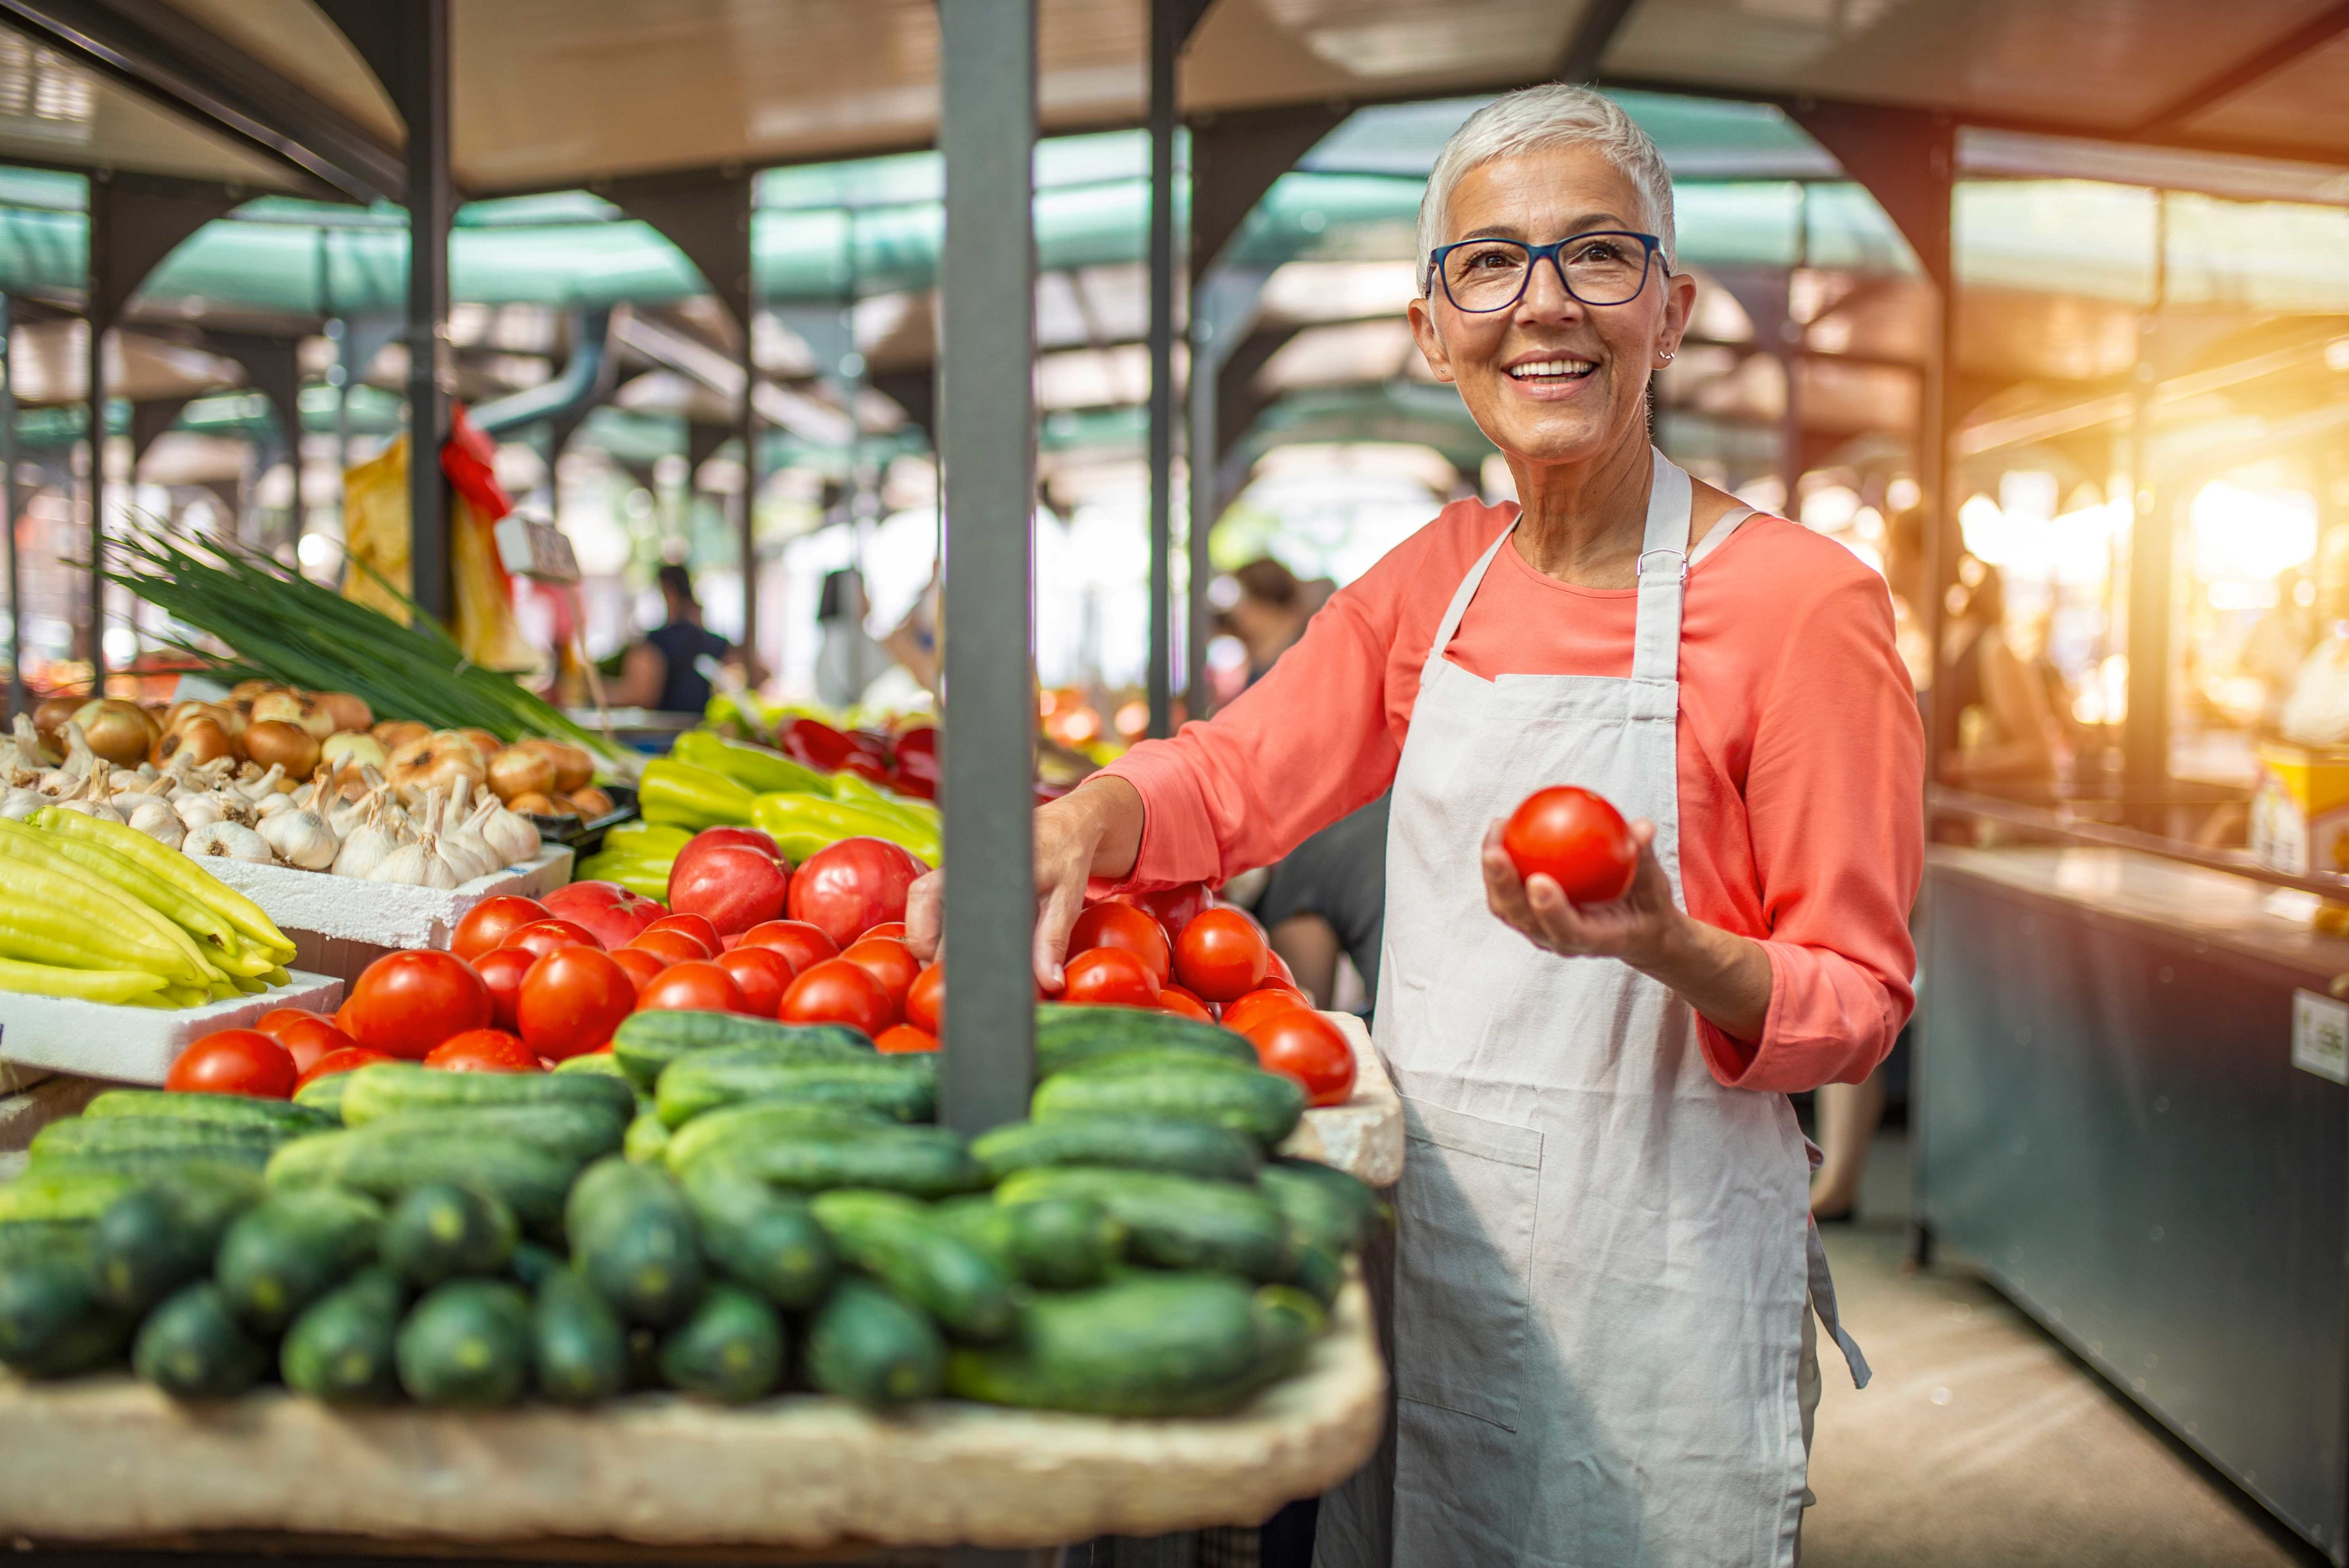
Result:
{"label": "grey metal market counter at right, behind the woman", "polygon": [[1919,1242],[2349,1561],[2349,941],[2091,845],[1936,847]]}

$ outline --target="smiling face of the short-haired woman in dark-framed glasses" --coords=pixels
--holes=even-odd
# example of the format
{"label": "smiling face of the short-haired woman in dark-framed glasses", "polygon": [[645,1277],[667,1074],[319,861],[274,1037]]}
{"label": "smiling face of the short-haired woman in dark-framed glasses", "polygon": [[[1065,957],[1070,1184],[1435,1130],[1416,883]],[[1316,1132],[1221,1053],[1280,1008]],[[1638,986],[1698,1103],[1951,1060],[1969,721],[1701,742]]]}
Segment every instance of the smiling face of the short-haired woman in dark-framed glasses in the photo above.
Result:
{"label": "smiling face of the short-haired woman in dark-framed glasses", "polygon": [[[1478,164],[1452,188],[1445,242],[1496,235],[1550,244],[1590,230],[1649,230],[1640,188],[1590,146],[1539,148]],[[1442,279],[1412,300],[1412,336],[1438,380],[1456,383],[1492,444],[1539,467],[1593,462],[1647,444],[1647,383],[1680,350],[1696,282],[1663,256],[1623,305],[1583,305],[1536,263],[1508,310],[1466,312]]]}

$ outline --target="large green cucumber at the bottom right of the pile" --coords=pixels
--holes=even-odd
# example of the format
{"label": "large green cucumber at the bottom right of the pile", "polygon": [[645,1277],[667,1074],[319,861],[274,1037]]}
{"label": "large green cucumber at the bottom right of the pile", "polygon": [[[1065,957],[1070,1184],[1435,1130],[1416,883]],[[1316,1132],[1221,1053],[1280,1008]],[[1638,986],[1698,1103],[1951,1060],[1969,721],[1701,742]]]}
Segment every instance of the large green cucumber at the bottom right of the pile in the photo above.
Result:
{"label": "large green cucumber at the bottom right of the pile", "polygon": [[1257,1291],[1240,1279],[1128,1275],[1038,1296],[1019,1343],[956,1350],[947,1387],[963,1399],[1088,1415],[1205,1413],[1280,1376],[1290,1338],[1290,1324],[1259,1312]]}

